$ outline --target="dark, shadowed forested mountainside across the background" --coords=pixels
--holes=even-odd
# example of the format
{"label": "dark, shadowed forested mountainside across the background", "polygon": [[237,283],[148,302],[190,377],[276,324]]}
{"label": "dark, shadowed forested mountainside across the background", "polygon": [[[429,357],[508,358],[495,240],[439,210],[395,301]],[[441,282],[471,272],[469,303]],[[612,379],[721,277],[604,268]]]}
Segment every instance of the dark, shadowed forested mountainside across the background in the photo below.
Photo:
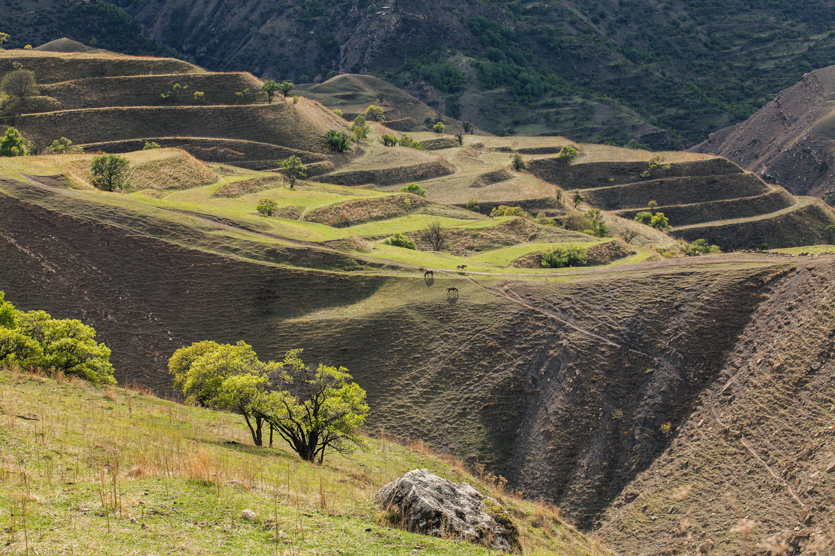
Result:
{"label": "dark, shadowed forested mountainside across the background", "polygon": [[66,35],[296,83],[370,73],[493,133],[655,148],[741,122],[835,54],[831,0],[5,0],[0,19],[13,47]]}

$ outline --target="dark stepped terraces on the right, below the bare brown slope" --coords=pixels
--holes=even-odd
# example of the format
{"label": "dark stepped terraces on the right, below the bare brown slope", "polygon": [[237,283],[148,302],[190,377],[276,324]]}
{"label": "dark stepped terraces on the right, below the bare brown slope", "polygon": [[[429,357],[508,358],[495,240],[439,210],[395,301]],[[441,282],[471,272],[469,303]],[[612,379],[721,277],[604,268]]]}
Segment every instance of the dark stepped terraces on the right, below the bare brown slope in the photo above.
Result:
{"label": "dark stepped terraces on the right, below the bare brown slope", "polygon": [[[690,242],[703,238],[723,250],[827,243],[826,228],[835,223],[835,214],[818,199],[793,197],[722,158],[671,158],[650,168],[646,162],[580,158],[565,164],[544,157],[529,166],[549,183],[579,191],[593,207],[623,218],[641,211],[664,213],[672,236]],[[651,202],[657,206],[650,208]]]}

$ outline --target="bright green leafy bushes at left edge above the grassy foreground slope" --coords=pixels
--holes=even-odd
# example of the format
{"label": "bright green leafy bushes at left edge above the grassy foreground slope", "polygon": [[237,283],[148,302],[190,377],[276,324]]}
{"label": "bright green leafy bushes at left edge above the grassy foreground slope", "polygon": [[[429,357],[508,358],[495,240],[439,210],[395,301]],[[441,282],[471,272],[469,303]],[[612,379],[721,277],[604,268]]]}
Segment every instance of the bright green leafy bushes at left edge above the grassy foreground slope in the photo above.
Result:
{"label": "bright green leafy bushes at left edge above the grassy foreground slope", "polygon": [[96,343],[95,337],[94,328],[81,321],[54,319],[43,311],[18,311],[0,292],[0,363],[115,384],[110,349]]}

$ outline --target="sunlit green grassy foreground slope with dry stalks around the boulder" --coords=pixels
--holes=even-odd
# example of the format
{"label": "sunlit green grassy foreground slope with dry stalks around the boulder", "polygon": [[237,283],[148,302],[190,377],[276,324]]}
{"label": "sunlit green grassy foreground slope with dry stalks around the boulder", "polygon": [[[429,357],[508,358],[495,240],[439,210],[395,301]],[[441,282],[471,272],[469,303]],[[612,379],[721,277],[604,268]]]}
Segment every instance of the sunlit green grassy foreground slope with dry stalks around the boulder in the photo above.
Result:
{"label": "sunlit green grassy foreground slope with dry stalks around the boulder", "polygon": [[[413,468],[496,497],[519,521],[526,553],[609,553],[551,509],[385,437],[316,466],[283,445],[251,446],[229,413],[8,370],[0,387],[0,526],[12,553],[494,553],[386,526],[373,495]],[[244,508],[256,522],[240,518]]]}

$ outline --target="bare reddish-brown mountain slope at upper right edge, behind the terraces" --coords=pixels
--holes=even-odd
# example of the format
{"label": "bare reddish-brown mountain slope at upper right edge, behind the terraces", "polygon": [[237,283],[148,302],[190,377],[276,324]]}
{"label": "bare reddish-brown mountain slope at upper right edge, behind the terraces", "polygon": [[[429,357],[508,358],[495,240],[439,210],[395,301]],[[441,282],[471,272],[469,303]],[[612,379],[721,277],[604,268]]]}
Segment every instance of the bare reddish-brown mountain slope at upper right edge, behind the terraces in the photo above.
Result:
{"label": "bare reddish-brown mountain slope at upper right edge, behind the terraces", "polygon": [[796,195],[835,203],[835,66],[807,73],[759,112],[692,150],[716,153]]}

